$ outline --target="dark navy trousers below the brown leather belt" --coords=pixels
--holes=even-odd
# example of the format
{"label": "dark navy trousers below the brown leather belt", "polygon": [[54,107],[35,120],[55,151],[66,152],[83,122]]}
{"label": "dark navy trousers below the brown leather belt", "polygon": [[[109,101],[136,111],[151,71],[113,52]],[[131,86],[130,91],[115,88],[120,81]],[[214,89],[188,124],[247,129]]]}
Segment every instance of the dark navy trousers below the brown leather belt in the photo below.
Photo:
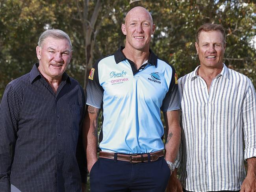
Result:
{"label": "dark navy trousers below the brown leather belt", "polygon": [[164,192],[170,174],[163,157],[134,164],[99,158],[90,172],[91,192]]}

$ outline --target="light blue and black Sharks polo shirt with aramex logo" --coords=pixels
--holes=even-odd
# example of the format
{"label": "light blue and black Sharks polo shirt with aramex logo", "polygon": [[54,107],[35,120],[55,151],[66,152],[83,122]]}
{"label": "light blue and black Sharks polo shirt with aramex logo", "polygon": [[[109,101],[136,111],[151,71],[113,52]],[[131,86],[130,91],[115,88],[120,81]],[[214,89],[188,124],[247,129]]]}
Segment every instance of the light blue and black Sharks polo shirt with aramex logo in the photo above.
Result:
{"label": "light blue and black Sharks polo shirt with aramex logo", "polygon": [[180,109],[175,70],[151,50],[137,70],[122,48],[96,61],[89,74],[87,105],[102,109],[99,147],[128,154],[163,150],[160,109]]}

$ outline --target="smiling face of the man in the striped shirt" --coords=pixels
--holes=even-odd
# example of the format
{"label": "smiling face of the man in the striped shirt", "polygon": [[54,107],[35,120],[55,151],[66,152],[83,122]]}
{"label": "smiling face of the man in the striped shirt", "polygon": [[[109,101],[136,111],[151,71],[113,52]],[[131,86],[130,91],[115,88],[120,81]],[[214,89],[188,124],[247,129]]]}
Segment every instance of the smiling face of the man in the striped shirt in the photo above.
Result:
{"label": "smiling face of the man in the striped shirt", "polygon": [[226,43],[221,31],[202,31],[195,43],[200,65],[207,68],[222,68]]}

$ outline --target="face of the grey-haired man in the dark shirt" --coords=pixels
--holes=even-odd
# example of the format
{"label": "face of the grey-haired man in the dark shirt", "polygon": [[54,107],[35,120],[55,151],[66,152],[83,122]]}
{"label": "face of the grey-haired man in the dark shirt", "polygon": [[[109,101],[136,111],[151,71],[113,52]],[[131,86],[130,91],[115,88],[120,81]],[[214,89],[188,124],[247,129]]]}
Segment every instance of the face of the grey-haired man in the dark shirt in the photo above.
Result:
{"label": "face of the grey-haired man in the dark shirt", "polygon": [[47,37],[42,47],[37,46],[36,50],[41,74],[48,81],[61,80],[72,57],[69,41]]}

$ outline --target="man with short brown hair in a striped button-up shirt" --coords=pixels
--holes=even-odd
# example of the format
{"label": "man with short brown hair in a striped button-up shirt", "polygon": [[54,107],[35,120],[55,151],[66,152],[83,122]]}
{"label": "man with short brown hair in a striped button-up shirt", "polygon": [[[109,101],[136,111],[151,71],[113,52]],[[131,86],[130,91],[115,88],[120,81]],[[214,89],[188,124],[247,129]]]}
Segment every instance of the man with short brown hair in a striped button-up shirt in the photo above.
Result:
{"label": "man with short brown hair in a striped button-up shirt", "polygon": [[256,191],[256,93],[249,78],[223,63],[225,40],[223,26],[202,25],[195,42],[200,66],[178,81],[180,181],[175,169],[169,191]]}

